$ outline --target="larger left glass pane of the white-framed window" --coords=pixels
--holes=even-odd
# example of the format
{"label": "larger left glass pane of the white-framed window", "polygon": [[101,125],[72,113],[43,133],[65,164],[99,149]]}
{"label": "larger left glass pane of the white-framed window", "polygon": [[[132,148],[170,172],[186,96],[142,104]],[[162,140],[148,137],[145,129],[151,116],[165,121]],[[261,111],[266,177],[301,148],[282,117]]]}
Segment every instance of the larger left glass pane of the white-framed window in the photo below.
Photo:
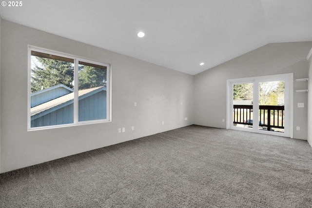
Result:
{"label": "larger left glass pane of the white-framed window", "polygon": [[74,123],[74,60],[31,52],[31,127]]}

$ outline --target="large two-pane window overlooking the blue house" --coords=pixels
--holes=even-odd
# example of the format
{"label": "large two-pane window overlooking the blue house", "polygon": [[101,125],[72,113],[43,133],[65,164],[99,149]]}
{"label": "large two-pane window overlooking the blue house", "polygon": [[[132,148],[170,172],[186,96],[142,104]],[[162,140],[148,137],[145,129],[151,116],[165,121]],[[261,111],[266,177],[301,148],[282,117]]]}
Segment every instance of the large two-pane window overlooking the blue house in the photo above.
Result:
{"label": "large two-pane window overlooking the blue house", "polygon": [[28,129],[110,119],[110,65],[29,48]]}

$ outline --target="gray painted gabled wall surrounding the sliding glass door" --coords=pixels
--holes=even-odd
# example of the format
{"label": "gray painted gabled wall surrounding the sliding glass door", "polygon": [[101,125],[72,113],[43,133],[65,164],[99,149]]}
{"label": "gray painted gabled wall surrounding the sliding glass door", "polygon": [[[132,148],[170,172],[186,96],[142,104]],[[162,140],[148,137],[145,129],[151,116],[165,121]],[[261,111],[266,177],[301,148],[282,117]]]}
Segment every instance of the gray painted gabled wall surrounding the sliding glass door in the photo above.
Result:
{"label": "gray painted gabled wall surrounding the sliding glass door", "polygon": [[[312,42],[271,43],[195,75],[195,124],[226,128],[227,80],[293,73],[294,79],[308,77],[306,59]],[[307,82],[294,82],[294,90],[307,89]],[[307,93],[293,94],[293,137],[307,140]],[[297,108],[305,103],[305,108]],[[300,126],[300,131],[296,131]]]}

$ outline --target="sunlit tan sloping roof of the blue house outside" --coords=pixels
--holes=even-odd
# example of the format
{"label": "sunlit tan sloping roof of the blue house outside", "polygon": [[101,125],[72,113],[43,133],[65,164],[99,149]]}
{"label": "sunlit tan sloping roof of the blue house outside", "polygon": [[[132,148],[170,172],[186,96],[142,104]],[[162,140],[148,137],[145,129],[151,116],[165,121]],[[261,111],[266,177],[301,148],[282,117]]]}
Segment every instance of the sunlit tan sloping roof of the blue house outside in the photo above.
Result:
{"label": "sunlit tan sloping roof of the blue house outside", "polygon": [[[89,89],[82,89],[78,91],[78,96],[79,96],[79,100],[86,98],[88,96],[91,96],[95,93],[98,93],[99,91],[106,91],[106,87],[104,86],[99,86],[99,87],[93,87],[93,88],[89,88]],[[52,101],[43,103],[43,104],[39,104],[35,107],[32,107],[30,109],[30,115],[33,117],[34,115],[37,115],[39,113],[45,112],[45,114],[48,114],[52,111],[55,111],[59,108],[62,108],[68,104],[72,104],[74,100],[74,92],[69,93],[67,95],[61,96],[57,99],[54,99]],[[40,115],[42,116],[42,115]],[[36,118],[32,118],[36,119]]]}

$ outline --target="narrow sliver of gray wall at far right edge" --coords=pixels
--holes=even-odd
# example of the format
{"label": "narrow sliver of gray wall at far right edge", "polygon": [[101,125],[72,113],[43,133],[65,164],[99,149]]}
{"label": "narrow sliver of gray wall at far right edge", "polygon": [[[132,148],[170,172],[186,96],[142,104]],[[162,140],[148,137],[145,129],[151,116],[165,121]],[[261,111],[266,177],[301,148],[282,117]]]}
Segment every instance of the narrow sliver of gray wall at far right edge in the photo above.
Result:
{"label": "narrow sliver of gray wall at far right edge", "polygon": [[309,61],[308,142],[312,146],[312,56],[309,58],[308,61]]}

